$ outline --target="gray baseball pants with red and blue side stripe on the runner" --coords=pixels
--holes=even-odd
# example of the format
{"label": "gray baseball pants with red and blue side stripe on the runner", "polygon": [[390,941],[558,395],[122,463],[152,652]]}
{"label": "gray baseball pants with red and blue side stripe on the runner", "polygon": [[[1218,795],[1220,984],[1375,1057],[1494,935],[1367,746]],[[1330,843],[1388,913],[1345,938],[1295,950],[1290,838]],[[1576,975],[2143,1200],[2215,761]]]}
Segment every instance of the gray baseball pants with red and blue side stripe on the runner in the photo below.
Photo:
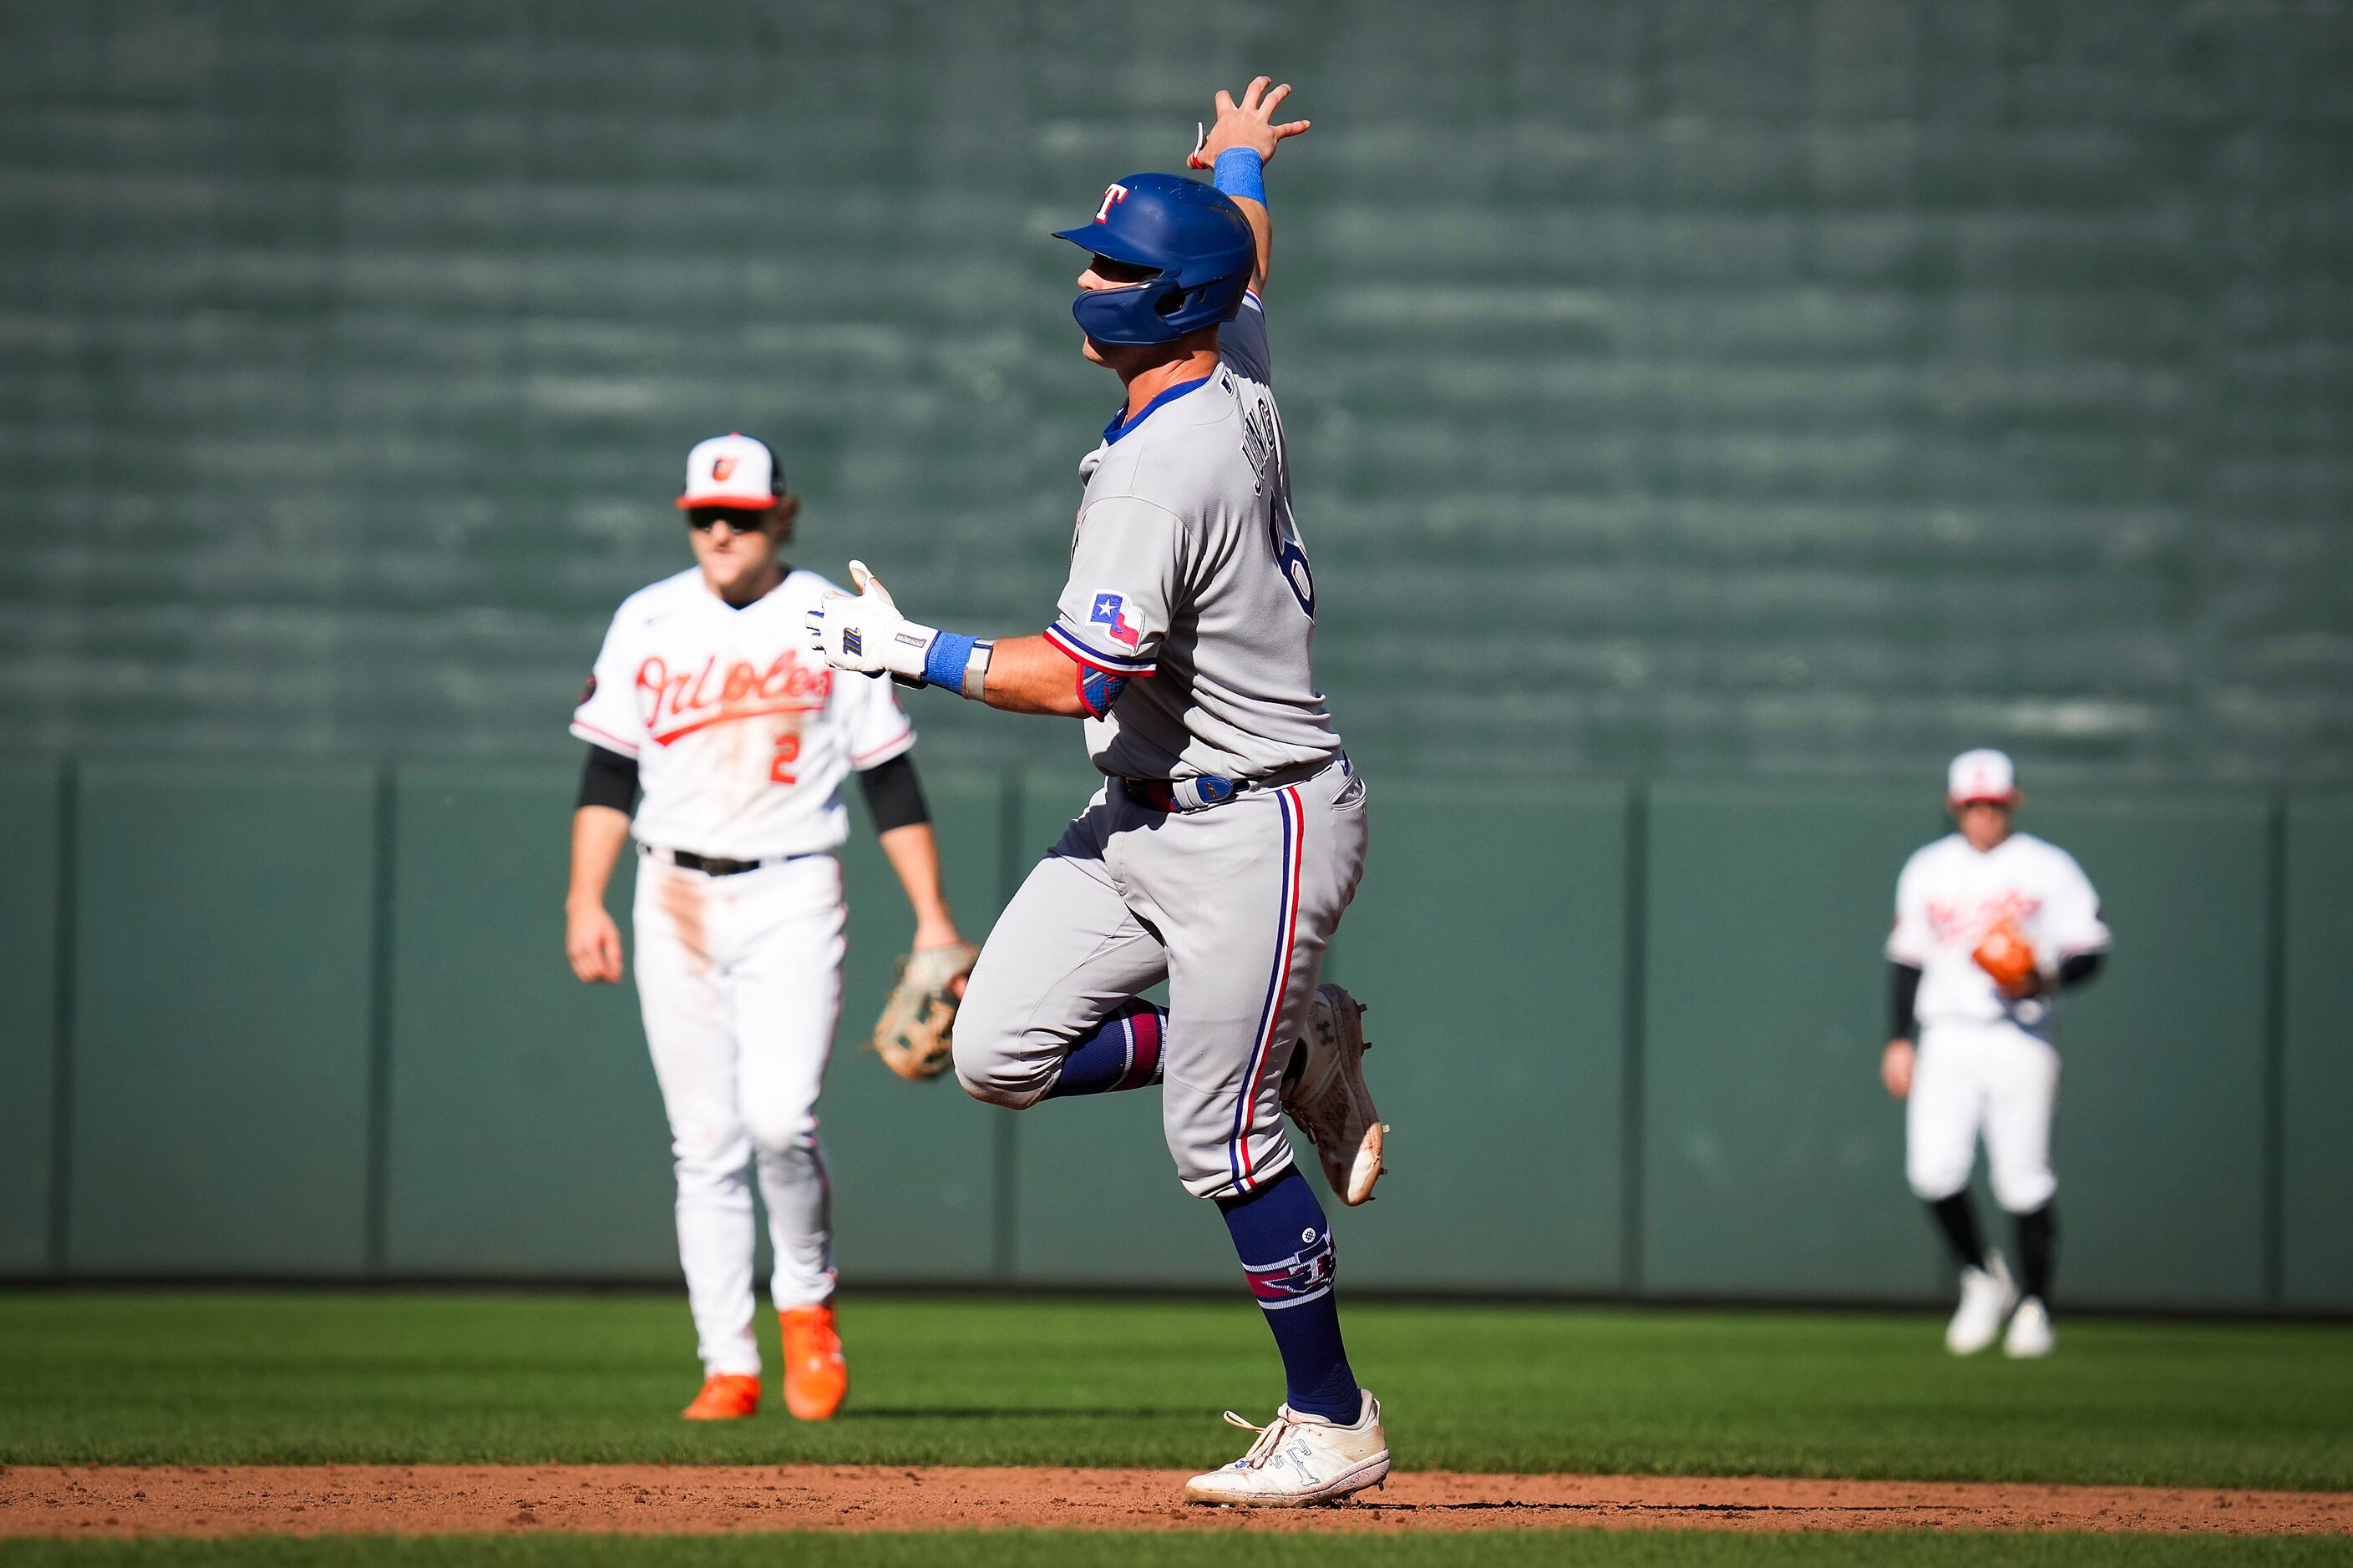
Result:
{"label": "gray baseball pants with red and blue side stripe on the runner", "polygon": [[1167,980],[1160,1126],[1186,1192],[1282,1175],[1282,1067],[1365,875],[1365,816],[1346,757],[1207,811],[1153,811],[1111,780],[988,933],[955,1016],[955,1077],[1026,1110],[1104,1018]]}

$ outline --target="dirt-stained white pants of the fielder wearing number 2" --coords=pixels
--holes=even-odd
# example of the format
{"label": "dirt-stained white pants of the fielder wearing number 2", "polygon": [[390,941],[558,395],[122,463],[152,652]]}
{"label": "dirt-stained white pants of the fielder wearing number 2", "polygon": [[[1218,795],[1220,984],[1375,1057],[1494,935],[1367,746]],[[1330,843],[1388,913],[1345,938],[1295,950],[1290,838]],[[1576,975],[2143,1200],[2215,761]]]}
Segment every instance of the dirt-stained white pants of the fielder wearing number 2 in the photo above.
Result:
{"label": "dirt-stained white pants of the fielder wearing number 2", "polygon": [[638,863],[638,1001],[678,1161],[678,1262],[704,1373],[760,1371],[751,1171],[776,1307],[833,1295],[833,1204],[816,1088],[842,1001],[842,865],[802,856],[734,877]]}

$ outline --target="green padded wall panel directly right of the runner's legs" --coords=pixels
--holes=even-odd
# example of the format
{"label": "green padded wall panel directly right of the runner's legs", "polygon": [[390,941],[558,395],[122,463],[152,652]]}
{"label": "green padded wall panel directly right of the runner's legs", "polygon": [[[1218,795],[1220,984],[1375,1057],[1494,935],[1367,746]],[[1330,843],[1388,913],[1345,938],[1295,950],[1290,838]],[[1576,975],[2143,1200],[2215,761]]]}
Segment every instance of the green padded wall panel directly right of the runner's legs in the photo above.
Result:
{"label": "green padded wall panel directly right of the runner's legs", "polygon": [[1395,1178],[1358,1211],[1327,1197],[1346,1279],[1619,1288],[1624,936],[1624,788],[1372,780],[1332,976],[1372,1009]]}

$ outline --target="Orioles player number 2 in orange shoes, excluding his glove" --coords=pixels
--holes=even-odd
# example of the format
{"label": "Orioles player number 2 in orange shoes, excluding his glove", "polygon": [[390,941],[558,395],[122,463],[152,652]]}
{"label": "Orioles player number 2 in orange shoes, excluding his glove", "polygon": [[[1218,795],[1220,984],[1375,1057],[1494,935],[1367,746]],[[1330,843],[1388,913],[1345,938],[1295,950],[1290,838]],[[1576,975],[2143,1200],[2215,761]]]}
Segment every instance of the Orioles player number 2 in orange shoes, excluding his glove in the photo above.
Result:
{"label": "Orioles player number 2 in orange shoes, excluding his glove", "polygon": [[[704,1361],[689,1420],[760,1408],[753,1345],[758,1168],[776,1253],[784,1401],[826,1420],[849,1387],[833,1321],[833,1234],[816,1086],[840,1011],[845,837],[859,771],[882,851],[915,905],[915,947],[960,943],[887,684],[842,682],[802,639],[831,588],[776,552],[800,498],[762,442],[687,458],[694,567],[621,602],[572,733],[588,743],[572,818],[565,945],[581,980],[621,978],[605,884],[638,837],[638,999],[678,1161],[678,1260]],[[631,804],[638,792],[645,799]]]}

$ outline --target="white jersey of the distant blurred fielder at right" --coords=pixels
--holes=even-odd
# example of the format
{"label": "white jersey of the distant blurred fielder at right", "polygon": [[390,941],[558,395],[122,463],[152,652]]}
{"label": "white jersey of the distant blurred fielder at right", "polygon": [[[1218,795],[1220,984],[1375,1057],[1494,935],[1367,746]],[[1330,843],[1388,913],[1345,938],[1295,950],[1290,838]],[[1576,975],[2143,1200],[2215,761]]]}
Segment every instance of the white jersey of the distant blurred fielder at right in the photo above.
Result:
{"label": "white jersey of the distant blurred fielder at right", "polygon": [[2071,853],[2031,832],[2014,832],[1984,853],[1953,832],[1904,863],[1887,957],[1920,971],[1922,1032],[1941,1023],[2009,1020],[2038,1039],[2049,1037],[2049,997],[2005,994],[1972,957],[2005,917],[2033,945],[2047,976],[2078,952],[2108,947],[2092,879]]}

